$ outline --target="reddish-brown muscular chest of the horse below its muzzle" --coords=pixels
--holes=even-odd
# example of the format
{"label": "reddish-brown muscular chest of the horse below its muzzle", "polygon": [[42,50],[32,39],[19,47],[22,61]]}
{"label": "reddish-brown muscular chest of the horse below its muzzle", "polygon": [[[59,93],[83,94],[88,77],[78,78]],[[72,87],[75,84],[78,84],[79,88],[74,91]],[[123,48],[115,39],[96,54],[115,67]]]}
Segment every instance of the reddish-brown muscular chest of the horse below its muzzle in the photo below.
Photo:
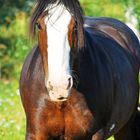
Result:
{"label": "reddish-brown muscular chest of the horse below its muzzle", "polygon": [[[49,109],[49,107],[48,107]],[[66,104],[47,111],[47,131],[52,137],[66,140],[90,139],[95,126],[93,114],[80,94],[74,94]],[[94,123],[94,124],[93,124]]]}

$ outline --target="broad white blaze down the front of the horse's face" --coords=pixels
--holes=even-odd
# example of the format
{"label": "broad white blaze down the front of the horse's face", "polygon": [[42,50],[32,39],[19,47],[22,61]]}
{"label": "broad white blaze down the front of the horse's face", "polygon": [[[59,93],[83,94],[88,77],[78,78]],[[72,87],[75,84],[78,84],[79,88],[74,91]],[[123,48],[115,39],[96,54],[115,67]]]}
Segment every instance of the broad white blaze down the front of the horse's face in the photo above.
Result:
{"label": "broad white blaze down the front of the horse's face", "polygon": [[[68,41],[70,21],[71,14],[63,5],[54,5],[45,19],[48,38],[48,80],[51,81],[53,89],[56,88],[57,91],[60,87],[66,89],[68,76],[71,75],[69,66],[70,45]],[[65,94],[68,94],[68,91],[65,91]]]}

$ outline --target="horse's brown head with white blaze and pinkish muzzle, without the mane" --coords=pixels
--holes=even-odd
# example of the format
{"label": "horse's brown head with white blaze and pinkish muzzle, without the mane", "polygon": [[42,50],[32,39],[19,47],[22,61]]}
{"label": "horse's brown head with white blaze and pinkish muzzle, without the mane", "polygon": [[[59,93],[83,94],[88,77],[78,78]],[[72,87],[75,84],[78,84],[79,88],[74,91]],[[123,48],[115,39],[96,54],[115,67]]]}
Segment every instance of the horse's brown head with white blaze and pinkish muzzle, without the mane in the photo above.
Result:
{"label": "horse's brown head with white blaze and pinkish muzzle, without the mane", "polygon": [[78,42],[78,37],[82,37],[82,30],[77,31],[78,16],[75,18],[70,11],[64,4],[53,3],[38,19],[45,85],[52,101],[68,99],[73,87],[73,61],[78,44],[83,42]]}

